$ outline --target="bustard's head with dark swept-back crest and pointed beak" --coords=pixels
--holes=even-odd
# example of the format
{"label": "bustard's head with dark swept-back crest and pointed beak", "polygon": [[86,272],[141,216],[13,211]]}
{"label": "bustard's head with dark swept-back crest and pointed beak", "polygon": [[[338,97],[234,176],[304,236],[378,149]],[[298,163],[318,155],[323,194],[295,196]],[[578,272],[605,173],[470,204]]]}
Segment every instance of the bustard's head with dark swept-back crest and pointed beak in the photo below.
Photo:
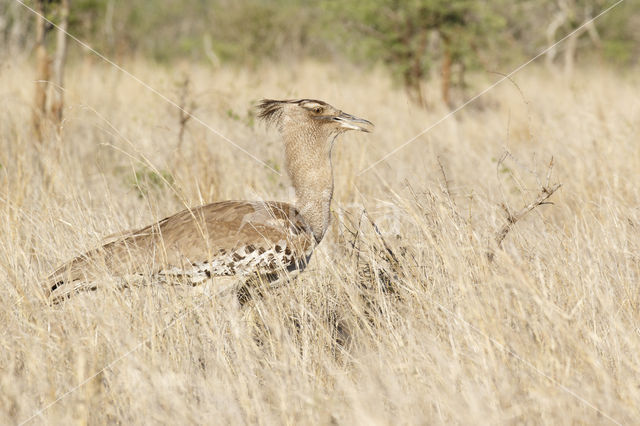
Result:
{"label": "bustard's head with dark swept-back crest and pointed beak", "polygon": [[304,130],[322,135],[338,135],[347,130],[371,132],[373,124],[314,99],[276,101],[263,99],[258,105],[258,117],[275,124],[280,132]]}

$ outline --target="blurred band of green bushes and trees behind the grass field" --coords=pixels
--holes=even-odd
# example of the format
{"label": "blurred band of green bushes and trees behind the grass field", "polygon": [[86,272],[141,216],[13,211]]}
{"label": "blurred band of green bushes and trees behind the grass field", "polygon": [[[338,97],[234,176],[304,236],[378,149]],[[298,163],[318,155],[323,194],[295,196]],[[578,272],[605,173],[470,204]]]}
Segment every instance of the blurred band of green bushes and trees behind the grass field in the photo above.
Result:
{"label": "blurred band of green bushes and trees behind the grass field", "polygon": [[[38,2],[25,0],[29,6]],[[383,66],[417,103],[438,77],[442,100],[470,71],[507,69],[534,56],[612,5],[613,0],[72,0],[68,28],[117,62],[197,61],[258,68],[269,61]],[[47,17],[60,20],[56,1]],[[0,1],[0,55],[34,50],[35,19]],[[628,67],[640,58],[640,2],[626,0],[546,55],[568,74],[574,63]],[[50,33],[51,31],[49,29]],[[53,44],[55,37],[46,43]],[[69,44],[73,61],[88,52]]]}

